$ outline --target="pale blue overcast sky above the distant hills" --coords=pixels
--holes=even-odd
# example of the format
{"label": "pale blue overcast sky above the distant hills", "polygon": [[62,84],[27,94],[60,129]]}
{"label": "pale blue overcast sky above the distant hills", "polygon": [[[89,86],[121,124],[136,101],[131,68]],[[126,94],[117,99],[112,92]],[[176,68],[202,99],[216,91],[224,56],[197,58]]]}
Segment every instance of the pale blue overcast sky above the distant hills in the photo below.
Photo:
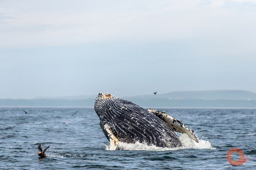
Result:
{"label": "pale blue overcast sky above the distant hills", "polygon": [[0,0],[0,99],[256,92],[256,0]]}

